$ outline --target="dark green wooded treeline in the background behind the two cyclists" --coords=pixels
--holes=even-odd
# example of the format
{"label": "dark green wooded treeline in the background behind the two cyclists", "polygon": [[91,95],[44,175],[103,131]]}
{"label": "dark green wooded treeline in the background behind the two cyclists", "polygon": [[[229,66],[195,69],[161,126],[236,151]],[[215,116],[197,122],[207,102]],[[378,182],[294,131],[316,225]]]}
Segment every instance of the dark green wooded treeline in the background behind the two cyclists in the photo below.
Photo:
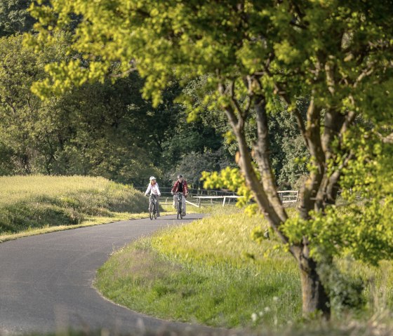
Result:
{"label": "dark green wooded treeline in the background behind the two cyclists", "polygon": [[[234,166],[237,145],[229,141],[224,117],[204,109],[187,123],[185,107],[175,102],[182,93],[196,107],[203,105],[198,92],[204,78],[183,89],[173,81],[156,108],[142,98],[138,72],[115,83],[110,78],[85,83],[46,100],[33,95],[33,83],[46,79],[46,64],[80,56],[67,53],[72,25],[54,36],[55,46],[39,52],[23,43],[23,34],[34,34],[30,2],[0,4],[1,175],[93,175],[135,185],[155,175],[168,186],[182,173],[199,187],[201,171]],[[294,161],[305,155],[305,147],[293,124],[277,114],[271,127],[273,167],[281,189],[295,188],[305,171],[304,163]],[[249,130],[250,142],[255,131]]]}

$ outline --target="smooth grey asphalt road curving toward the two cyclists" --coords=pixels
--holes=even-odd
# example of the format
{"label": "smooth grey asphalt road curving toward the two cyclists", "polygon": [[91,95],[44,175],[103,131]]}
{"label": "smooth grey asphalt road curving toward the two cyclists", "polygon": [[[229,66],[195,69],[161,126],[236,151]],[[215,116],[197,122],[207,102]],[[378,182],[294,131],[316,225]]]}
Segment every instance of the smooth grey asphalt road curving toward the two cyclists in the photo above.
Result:
{"label": "smooth grey asphalt road curving toward the two cyclists", "polygon": [[[190,214],[182,222],[201,218]],[[84,227],[0,243],[0,335],[27,331],[107,328],[139,332],[182,330],[186,324],[150,318],[105,300],[92,287],[95,271],[112,251],[168,225],[175,216]]]}

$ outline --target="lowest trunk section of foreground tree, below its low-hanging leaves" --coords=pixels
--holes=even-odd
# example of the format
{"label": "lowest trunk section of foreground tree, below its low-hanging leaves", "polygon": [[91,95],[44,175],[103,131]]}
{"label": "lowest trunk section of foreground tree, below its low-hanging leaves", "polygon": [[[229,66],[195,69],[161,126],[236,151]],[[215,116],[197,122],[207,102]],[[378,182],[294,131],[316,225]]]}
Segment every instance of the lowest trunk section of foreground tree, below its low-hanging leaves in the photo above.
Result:
{"label": "lowest trunk section of foreground tree, below its low-hanging leaves", "polygon": [[330,300],[317,273],[317,262],[300,259],[300,280],[302,283],[302,311],[305,317],[320,311],[328,320],[331,316]]}

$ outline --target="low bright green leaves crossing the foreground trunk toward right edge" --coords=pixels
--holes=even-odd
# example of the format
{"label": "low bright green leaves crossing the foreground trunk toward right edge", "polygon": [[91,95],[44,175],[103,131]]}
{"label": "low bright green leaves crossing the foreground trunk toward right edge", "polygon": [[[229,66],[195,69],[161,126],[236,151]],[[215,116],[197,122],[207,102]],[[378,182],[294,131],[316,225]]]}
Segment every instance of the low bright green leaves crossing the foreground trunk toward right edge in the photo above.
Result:
{"label": "low bright green leaves crossing the foreground trunk toward right edge", "polygon": [[393,257],[393,225],[389,220],[392,210],[392,196],[383,201],[365,200],[342,208],[326,208],[325,213],[313,213],[307,221],[290,218],[281,231],[295,245],[306,237],[316,260],[349,254],[376,265]]}

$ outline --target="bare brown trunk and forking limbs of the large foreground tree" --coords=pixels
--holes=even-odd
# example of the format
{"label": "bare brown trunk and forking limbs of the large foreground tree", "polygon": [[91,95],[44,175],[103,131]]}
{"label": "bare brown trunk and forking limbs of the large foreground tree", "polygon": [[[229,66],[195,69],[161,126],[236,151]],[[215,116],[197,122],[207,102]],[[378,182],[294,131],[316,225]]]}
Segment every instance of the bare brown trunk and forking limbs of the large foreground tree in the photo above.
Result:
{"label": "bare brown trunk and forking limbs of the large foreground tree", "polygon": [[[234,86],[232,88],[225,88],[224,84],[221,84],[219,91],[222,95],[226,93],[233,93]],[[284,206],[279,201],[277,196],[277,189],[274,184],[274,175],[269,163],[269,140],[268,140],[268,124],[267,114],[265,111],[265,100],[263,97],[254,96],[254,107],[256,113],[256,121],[258,127],[258,143],[256,144],[255,152],[258,166],[261,171],[262,178],[258,179],[253,168],[253,160],[246,143],[246,135],[244,133],[244,126],[247,117],[247,112],[242,111],[239,104],[234,101],[234,95],[232,94],[233,105],[227,105],[224,109],[227,114],[234,135],[237,137],[239,145],[239,166],[244,173],[246,184],[253,191],[255,201],[258,203],[258,207],[265,215],[266,220],[269,222],[270,227],[276,231],[281,241],[286,244],[289,243],[288,237],[286,237],[280,230],[281,224],[283,224],[288,218]],[[236,112],[237,113],[236,113]],[[309,109],[309,113],[316,113],[314,105]],[[320,134],[319,134],[319,123],[309,125],[307,129],[307,135],[309,136],[309,145],[314,149],[316,161],[321,165],[324,162],[324,153],[321,152],[320,145]],[[305,208],[307,210],[303,213],[305,217],[308,216],[309,210],[312,209],[315,200],[312,196],[317,194],[317,189],[321,182],[321,177],[324,174],[324,168],[319,166],[318,173],[312,175],[312,183],[309,185]],[[305,218],[305,219],[308,219]],[[302,311],[305,316],[321,311],[322,316],[328,319],[330,318],[330,300],[326,295],[324,285],[321,283],[319,274],[317,273],[317,262],[309,257],[309,249],[307,246],[307,239],[304,239],[302,243],[298,245],[290,245],[289,250],[295,260],[298,262],[300,268],[300,279],[302,283]]]}

